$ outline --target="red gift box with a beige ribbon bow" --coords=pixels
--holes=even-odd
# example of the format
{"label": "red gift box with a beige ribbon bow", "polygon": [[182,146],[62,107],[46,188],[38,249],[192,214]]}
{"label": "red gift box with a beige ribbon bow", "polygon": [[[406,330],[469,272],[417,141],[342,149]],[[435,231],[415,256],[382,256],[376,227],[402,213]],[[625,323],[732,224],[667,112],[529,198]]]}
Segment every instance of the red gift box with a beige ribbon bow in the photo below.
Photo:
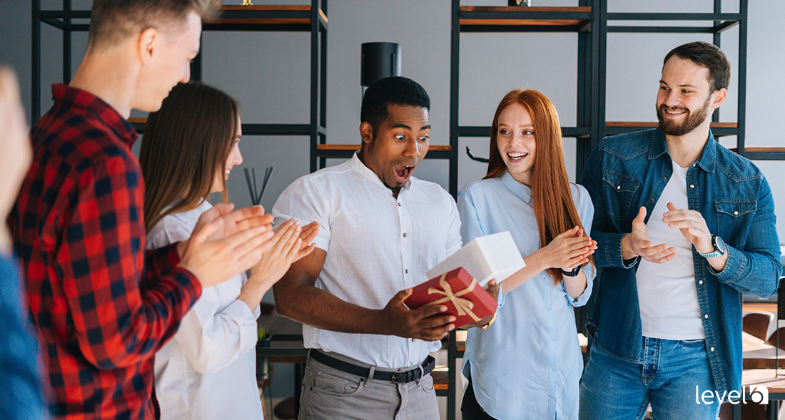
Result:
{"label": "red gift box with a beige ribbon bow", "polygon": [[496,300],[469,272],[455,268],[416,287],[405,301],[410,309],[424,305],[446,305],[454,315],[455,327],[473,323],[496,312]]}

